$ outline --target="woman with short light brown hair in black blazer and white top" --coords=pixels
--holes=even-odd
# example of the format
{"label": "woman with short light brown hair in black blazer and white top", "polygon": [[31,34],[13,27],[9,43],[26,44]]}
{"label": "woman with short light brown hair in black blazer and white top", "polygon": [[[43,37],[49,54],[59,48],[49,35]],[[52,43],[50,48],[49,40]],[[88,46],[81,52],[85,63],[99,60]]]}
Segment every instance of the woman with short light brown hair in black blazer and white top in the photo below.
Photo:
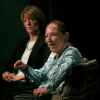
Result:
{"label": "woman with short light brown hair in black blazer and white top", "polygon": [[[26,6],[21,13],[21,20],[27,32],[27,36],[21,45],[17,48],[13,58],[11,59],[11,62],[16,64],[20,59],[24,64],[28,64],[34,67],[34,69],[39,69],[43,66],[50,53],[41,30],[43,28],[43,24],[45,23],[45,16],[38,7]],[[17,73],[6,71],[2,76],[5,81],[10,82],[8,82],[9,84],[11,84],[12,81],[25,80],[25,75],[21,70],[18,70]],[[12,87],[12,90],[18,87],[20,87],[20,89],[21,87],[22,89],[25,87],[29,88],[28,85],[20,85],[10,85],[8,88],[10,89]],[[7,91],[7,87],[4,86],[4,88]],[[7,95],[9,93],[16,93],[15,91],[10,92],[7,91]],[[18,90],[18,92],[20,92],[20,90]]]}

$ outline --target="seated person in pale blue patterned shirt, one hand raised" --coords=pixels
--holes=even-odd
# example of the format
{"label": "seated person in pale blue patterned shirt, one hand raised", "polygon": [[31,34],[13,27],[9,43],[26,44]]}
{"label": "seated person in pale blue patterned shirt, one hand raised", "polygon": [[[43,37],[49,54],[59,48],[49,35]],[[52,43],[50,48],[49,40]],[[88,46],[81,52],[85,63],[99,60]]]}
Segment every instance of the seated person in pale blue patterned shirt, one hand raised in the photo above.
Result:
{"label": "seated person in pale blue patterned shirt, one hand raised", "polygon": [[[66,32],[64,27],[64,23],[59,20],[53,20],[47,25],[45,40],[51,54],[42,68],[34,69],[22,61],[14,65],[37,84],[38,87],[33,88],[34,96],[42,97],[54,91],[64,80],[65,75],[70,75],[71,69],[81,61],[81,54],[69,43],[69,32]],[[15,100],[24,98],[22,95],[16,95]]]}

